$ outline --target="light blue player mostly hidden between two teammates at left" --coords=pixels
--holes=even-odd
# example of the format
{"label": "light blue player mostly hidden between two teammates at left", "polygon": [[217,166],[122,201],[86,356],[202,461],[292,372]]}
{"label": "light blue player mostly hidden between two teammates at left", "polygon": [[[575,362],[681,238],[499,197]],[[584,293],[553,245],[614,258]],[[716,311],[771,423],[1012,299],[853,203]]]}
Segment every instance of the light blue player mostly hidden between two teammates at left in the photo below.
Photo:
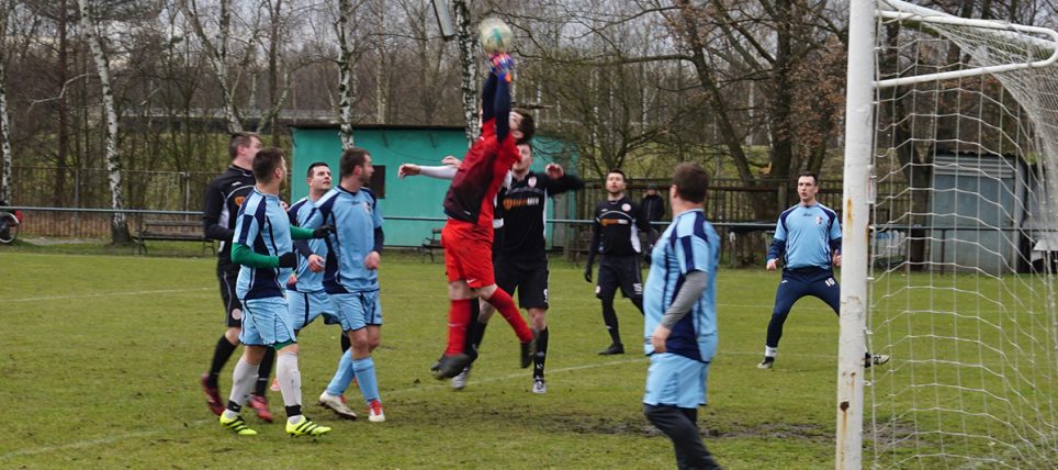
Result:
{"label": "light blue player mostly hidden between two teammates at left", "polygon": [[[306,176],[308,195],[295,202],[286,211],[292,226],[304,226],[316,214],[316,201],[331,189],[330,167],[323,161],[308,166]],[[301,329],[309,323],[324,317],[324,323],[340,324],[330,296],[324,290],[324,269],[326,267],[327,242],[323,239],[296,240],[294,248],[301,255],[294,271],[294,283],[286,284],[286,302],[290,304],[290,318],[294,325],[294,334],[301,335]],[[349,337],[341,336],[341,354],[350,347]],[[346,373],[352,374],[352,365],[348,363]],[[317,402],[320,406],[330,409],[339,417],[356,419],[357,413],[349,410],[341,396],[330,396],[326,392]]]}

